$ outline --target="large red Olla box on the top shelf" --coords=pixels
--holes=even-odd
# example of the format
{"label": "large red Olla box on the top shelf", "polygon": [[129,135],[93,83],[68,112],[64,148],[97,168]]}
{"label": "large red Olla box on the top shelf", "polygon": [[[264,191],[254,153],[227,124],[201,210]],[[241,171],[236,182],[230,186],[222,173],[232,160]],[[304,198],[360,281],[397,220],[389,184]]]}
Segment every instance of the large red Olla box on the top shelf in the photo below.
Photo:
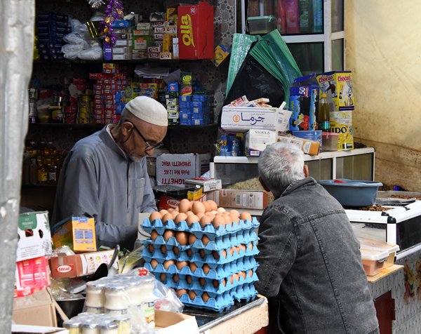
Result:
{"label": "large red Olla box on the top shelf", "polygon": [[213,6],[178,6],[178,39],[180,59],[213,58]]}

